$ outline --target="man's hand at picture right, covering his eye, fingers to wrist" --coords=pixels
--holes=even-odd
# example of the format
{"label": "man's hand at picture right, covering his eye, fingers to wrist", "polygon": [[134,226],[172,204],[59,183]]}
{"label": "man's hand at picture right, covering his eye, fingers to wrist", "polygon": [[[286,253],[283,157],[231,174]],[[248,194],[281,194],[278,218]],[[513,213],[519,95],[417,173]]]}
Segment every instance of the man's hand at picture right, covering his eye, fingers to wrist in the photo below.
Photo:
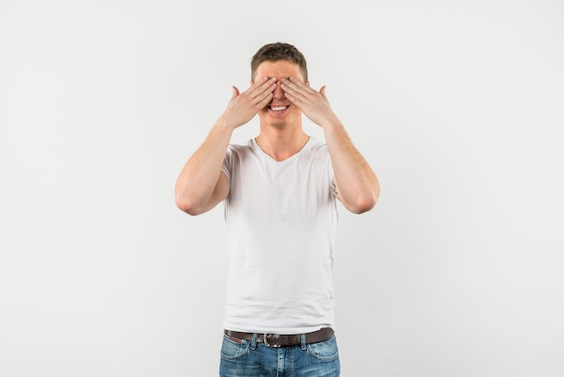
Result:
{"label": "man's hand at picture right, covering his eye, fingers to wrist", "polygon": [[325,97],[324,86],[318,92],[299,78],[291,77],[282,78],[282,90],[284,90],[287,99],[300,107],[304,115],[315,124],[323,127],[338,122],[327,97]]}

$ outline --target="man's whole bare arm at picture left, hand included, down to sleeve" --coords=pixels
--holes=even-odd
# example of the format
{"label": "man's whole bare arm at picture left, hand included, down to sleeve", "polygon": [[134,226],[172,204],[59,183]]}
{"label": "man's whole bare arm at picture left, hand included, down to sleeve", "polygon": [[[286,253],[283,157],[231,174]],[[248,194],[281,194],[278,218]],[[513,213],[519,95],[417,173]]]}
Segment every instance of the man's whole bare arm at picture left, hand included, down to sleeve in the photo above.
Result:
{"label": "man's whole bare arm at picture left, hand included, down to sleeve", "polygon": [[222,171],[222,164],[232,133],[267,106],[274,88],[276,85],[268,78],[241,94],[232,87],[232,99],[227,109],[180,171],[175,186],[178,208],[189,215],[200,215],[229,195],[229,180]]}

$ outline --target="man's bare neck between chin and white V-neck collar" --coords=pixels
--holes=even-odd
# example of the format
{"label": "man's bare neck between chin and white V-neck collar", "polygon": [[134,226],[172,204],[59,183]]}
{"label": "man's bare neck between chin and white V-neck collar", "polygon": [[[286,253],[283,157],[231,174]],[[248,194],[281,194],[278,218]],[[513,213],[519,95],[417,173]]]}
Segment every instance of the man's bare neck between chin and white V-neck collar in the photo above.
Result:
{"label": "man's bare neck between chin and white V-neck collar", "polygon": [[260,149],[276,161],[284,161],[304,148],[309,136],[302,128],[277,129],[261,127],[259,136],[255,138]]}

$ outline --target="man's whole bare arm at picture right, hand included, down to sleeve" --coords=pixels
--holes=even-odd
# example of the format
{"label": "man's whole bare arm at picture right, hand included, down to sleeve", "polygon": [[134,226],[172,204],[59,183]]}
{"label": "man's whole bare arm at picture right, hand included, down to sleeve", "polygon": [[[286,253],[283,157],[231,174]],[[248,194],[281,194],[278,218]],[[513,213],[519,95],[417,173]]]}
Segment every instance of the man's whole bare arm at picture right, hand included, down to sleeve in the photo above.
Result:
{"label": "man's whole bare arm at picture right, hand included, down to sleeve", "polygon": [[297,78],[283,78],[282,83],[287,99],[323,128],[334,170],[333,193],[350,212],[372,209],[380,194],[378,179],[332,112],[325,87],[317,92]]}

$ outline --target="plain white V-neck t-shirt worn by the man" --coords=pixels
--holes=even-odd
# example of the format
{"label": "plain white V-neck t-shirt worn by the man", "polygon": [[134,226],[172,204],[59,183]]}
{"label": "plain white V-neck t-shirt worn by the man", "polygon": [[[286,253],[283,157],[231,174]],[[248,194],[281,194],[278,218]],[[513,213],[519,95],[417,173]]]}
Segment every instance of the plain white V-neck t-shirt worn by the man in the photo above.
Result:
{"label": "plain white V-neck t-shirt worn by the man", "polygon": [[296,334],[334,327],[337,203],[324,143],[276,161],[254,139],[230,145],[223,172],[229,275],[224,327]]}

